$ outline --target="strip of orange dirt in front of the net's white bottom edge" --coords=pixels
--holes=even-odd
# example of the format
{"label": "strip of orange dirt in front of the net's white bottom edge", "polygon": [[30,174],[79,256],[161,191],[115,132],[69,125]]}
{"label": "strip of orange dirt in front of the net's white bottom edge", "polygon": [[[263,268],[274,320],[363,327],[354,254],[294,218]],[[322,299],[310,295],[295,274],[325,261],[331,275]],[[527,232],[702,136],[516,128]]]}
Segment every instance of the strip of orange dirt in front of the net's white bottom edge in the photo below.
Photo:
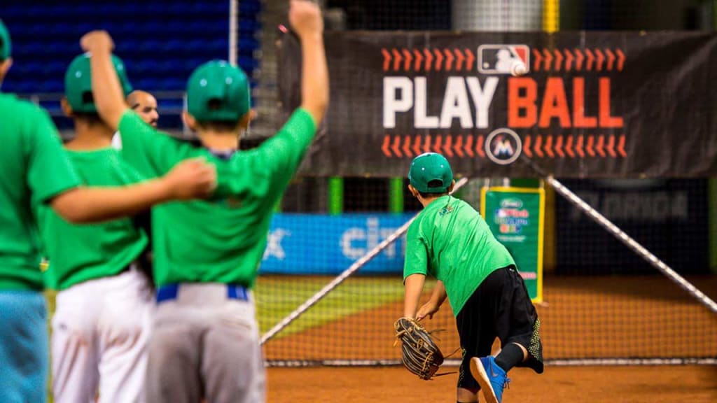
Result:
{"label": "strip of orange dirt in front of the net's white bottom edge", "polygon": [[[715,366],[551,366],[510,375],[505,403],[717,402]],[[422,381],[402,367],[270,368],[267,402],[455,402],[456,379]]]}

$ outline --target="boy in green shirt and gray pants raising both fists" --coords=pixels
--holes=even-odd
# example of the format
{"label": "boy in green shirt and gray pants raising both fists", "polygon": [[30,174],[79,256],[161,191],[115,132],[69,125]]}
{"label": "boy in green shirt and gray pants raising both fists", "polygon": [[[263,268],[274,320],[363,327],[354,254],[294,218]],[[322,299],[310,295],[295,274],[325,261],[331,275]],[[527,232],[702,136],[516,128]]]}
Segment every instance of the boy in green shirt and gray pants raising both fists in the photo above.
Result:
{"label": "boy in green shirt and gray pants raising both fists", "polygon": [[82,39],[92,53],[98,112],[122,137],[123,157],[146,176],[191,156],[217,166],[217,199],[152,211],[157,309],[149,348],[151,402],[260,402],[264,369],[250,288],[272,209],[298,169],[328,103],[323,20],[316,4],[293,0],[289,20],[302,44],[302,103],[276,136],[250,151],[237,138],[252,116],[247,76],[208,62],[189,77],[184,120],[201,146],[149,128],[123,103],[110,70],[111,39]]}

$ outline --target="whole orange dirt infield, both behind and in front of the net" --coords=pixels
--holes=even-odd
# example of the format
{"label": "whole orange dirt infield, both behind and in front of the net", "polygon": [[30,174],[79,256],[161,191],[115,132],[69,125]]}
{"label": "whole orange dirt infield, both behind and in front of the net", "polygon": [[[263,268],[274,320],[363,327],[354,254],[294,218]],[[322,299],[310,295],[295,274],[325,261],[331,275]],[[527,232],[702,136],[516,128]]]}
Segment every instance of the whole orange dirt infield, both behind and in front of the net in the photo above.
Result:
{"label": "whole orange dirt infield, both behind and in front of the net", "polygon": [[[690,279],[715,298],[717,278]],[[546,359],[717,357],[717,317],[660,276],[549,278],[543,321]],[[330,307],[329,307],[330,308]],[[398,359],[391,323],[402,303],[346,316],[267,343],[267,359]],[[443,351],[457,346],[450,309]],[[428,325],[427,325],[428,326]],[[358,330],[366,338],[356,338]],[[353,335],[351,337],[349,335]],[[447,367],[453,370],[455,367]],[[547,366],[513,369],[505,402],[717,402],[717,366]],[[400,366],[268,369],[268,402],[455,402],[457,374],[421,381]]]}

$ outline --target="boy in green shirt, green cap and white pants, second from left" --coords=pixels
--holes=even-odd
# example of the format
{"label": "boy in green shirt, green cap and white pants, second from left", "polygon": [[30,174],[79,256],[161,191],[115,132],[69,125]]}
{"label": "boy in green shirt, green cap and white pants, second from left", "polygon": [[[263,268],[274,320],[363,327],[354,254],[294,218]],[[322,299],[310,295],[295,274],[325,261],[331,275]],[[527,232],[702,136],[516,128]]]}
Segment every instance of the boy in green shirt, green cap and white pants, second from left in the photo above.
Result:
{"label": "boy in green shirt, green cap and white pants, second from left", "polygon": [[[129,93],[123,63],[112,60]],[[75,122],[75,138],[65,149],[82,184],[143,181],[111,146],[114,131],[92,100],[87,54],[67,68],[62,109]],[[89,402],[98,389],[100,402],[143,402],[153,295],[137,260],[147,246],[146,234],[130,218],[76,225],[47,207],[39,209],[39,217],[51,262],[46,275],[60,291],[52,319],[54,402]]]}

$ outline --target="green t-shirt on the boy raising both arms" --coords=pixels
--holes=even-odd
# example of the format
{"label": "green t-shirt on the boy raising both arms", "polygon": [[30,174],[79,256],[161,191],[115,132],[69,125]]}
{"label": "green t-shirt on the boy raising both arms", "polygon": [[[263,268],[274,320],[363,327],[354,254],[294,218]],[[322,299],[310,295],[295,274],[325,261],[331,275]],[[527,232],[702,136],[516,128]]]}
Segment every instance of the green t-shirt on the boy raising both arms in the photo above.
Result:
{"label": "green t-shirt on the boy raising both arms", "polygon": [[272,210],[313,140],[315,123],[297,110],[276,136],[249,151],[215,156],[157,133],[136,113],[120,120],[122,155],[141,174],[165,174],[181,160],[204,156],[217,166],[211,201],[152,209],[154,277],[171,283],[234,283],[251,287],[264,255]]}

